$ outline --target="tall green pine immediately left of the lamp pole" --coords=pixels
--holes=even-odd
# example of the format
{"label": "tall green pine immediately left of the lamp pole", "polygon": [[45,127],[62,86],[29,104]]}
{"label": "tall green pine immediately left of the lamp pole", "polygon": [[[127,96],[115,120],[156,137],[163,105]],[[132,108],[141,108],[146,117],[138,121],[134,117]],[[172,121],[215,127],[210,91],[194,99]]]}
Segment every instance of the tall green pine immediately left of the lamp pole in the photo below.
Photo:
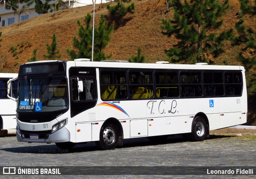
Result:
{"label": "tall green pine immediately left of the lamp pole", "polygon": [[92,25],[90,24],[92,16],[88,13],[85,18],[85,27],[78,20],[77,24],[79,26],[78,36],[80,40],[76,37],[73,38],[73,46],[77,49],[78,53],[74,50],[67,49],[67,53],[71,60],[78,58],[90,58],[92,56]]}

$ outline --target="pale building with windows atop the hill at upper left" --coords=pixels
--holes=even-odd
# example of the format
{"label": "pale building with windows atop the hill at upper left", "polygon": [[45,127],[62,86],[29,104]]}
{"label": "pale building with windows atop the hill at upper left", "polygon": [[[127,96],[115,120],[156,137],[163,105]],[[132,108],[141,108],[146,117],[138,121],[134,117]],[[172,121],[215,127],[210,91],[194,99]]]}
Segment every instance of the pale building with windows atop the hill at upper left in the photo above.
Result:
{"label": "pale building with windows atop the hill at upper left", "polygon": [[[41,0],[44,4],[45,0]],[[86,6],[92,4],[92,0],[63,0],[67,7],[76,8],[80,6]],[[96,0],[96,4],[109,2],[110,0]],[[50,1],[50,4],[54,4],[55,0]],[[9,0],[0,0],[0,27],[9,26],[18,22],[18,15],[14,14],[12,9],[6,10],[5,6],[9,3]],[[22,6],[22,4],[21,4]],[[28,20],[30,18],[39,16],[35,10],[35,3],[33,3],[28,9],[28,14],[21,14],[20,21]],[[50,12],[50,11],[49,11]]]}

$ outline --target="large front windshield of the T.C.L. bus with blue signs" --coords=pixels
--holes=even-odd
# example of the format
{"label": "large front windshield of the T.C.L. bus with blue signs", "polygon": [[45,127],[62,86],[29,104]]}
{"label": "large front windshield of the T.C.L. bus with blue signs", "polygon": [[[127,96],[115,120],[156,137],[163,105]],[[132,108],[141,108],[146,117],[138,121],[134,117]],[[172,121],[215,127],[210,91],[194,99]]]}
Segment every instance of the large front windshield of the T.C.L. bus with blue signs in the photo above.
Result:
{"label": "large front windshield of the T.C.L. bus with blue signs", "polygon": [[20,79],[17,111],[48,112],[68,106],[67,83],[64,77]]}

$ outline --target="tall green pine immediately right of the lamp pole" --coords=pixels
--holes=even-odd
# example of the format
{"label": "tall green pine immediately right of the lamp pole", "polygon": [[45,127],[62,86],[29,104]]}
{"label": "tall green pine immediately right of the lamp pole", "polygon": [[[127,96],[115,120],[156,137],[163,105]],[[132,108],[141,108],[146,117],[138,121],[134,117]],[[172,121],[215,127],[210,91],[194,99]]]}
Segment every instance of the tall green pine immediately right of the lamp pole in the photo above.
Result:
{"label": "tall green pine immediately right of the lamp pole", "polygon": [[94,31],[94,59],[95,61],[106,60],[108,57],[102,53],[102,49],[106,47],[108,42],[111,40],[110,33],[114,30],[113,24],[108,26],[108,21],[104,18],[102,14],[100,16],[100,22]]}

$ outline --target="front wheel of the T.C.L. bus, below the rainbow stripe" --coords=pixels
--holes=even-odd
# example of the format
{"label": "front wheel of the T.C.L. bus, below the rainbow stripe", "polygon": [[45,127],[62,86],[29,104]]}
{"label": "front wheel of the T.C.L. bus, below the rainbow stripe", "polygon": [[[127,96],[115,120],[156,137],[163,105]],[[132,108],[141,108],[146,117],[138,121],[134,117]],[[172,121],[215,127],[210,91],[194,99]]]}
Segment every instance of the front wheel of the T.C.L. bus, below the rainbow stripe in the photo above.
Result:
{"label": "front wheel of the T.C.L. bus, below the rainbow stripe", "polygon": [[104,124],[100,130],[100,140],[97,146],[103,150],[114,149],[118,143],[118,129],[114,124]]}

